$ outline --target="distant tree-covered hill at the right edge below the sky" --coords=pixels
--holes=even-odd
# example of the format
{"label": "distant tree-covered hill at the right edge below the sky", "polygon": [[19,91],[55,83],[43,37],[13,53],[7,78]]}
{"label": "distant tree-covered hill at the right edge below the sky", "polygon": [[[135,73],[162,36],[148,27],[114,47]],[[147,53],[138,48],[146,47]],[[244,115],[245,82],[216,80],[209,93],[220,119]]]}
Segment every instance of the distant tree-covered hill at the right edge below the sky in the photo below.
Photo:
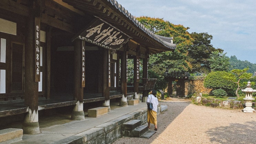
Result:
{"label": "distant tree-covered hill at the right edge below the sky", "polygon": [[248,73],[254,74],[256,72],[256,64],[250,63],[249,61],[241,61],[237,60],[236,56],[230,56],[229,62],[231,64],[231,70],[239,69],[242,70],[244,68],[249,67]]}

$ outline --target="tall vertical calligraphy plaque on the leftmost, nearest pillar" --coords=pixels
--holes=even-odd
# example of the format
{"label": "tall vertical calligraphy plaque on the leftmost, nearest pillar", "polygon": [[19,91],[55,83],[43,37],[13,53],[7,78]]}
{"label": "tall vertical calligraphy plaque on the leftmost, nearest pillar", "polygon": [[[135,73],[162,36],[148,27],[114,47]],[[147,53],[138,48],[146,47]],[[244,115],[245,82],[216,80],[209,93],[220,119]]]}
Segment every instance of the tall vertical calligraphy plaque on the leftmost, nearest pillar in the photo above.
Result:
{"label": "tall vertical calligraphy plaque on the leftmost, nearest pillar", "polygon": [[40,18],[35,17],[34,25],[34,48],[35,48],[35,82],[40,81]]}

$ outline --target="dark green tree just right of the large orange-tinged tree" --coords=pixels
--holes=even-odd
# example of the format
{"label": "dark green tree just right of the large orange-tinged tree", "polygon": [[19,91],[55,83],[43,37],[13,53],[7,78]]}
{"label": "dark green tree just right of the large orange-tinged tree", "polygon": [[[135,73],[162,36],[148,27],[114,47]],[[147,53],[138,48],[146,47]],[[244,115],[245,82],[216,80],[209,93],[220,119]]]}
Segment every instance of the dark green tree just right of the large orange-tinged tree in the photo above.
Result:
{"label": "dark green tree just right of the large orange-tinged tree", "polygon": [[219,52],[223,52],[223,50],[213,47],[211,44],[213,36],[209,35],[207,32],[192,32],[190,35],[192,39],[194,39],[193,44],[188,47],[188,56],[192,64],[192,72],[209,73],[211,70],[208,61],[210,54],[216,50]]}

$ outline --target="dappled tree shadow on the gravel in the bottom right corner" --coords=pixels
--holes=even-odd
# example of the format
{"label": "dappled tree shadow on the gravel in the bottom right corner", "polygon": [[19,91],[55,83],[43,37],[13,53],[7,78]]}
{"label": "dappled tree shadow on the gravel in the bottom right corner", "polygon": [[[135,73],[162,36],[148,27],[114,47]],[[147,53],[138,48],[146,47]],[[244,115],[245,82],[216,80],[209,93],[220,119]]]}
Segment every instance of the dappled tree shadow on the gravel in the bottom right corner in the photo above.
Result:
{"label": "dappled tree shadow on the gravel in the bottom right corner", "polygon": [[221,144],[255,144],[256,121],[212,128],[206,133],[211,142]]}

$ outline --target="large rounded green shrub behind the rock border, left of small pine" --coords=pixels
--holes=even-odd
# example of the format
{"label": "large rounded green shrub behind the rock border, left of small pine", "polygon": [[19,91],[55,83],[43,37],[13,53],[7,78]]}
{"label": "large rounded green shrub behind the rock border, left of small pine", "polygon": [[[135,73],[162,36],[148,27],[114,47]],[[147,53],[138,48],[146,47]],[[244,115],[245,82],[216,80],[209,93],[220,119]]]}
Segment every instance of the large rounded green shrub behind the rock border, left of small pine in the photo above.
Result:
{"label": "large rounded green shrub behind the rock border, left of small pine", "polygon": [[212,71],[205,77],[204,86],[213,90],[223,89],[228,95],[235,95],[236,86],[232,81],[227,80],[227,78],[235,79],[235,76],[230,72]]}

